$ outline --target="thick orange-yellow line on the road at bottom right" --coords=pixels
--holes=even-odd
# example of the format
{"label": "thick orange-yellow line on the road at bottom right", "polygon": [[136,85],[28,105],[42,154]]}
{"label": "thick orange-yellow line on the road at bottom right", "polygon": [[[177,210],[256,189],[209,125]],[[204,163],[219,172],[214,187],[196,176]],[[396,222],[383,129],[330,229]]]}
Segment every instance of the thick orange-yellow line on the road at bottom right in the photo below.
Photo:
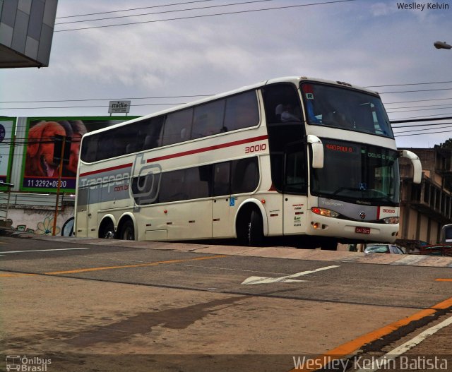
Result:
{"label": "thick orange-yellow line on the road at bottom right", "polygon": [[309,359],[309,361],[307,361],[307,364],[309,366],[312,366],[311,368],[309,367],[293,368],[292,370],[290,370],[290,372],[318,371],[319,369],[323,368],[324,366],[326,366],[326,364],[330,363],[333,360],[343,359],[344,357],[352,355],[354,352],[363,347],[365,344],[369,344],[369,342],[379,340],[379,338],[389,335],[391,332],[398,330],[404,325],[408,325],[414,322],[415,320],[426,318],[427,316],[432,316],[439,309],[445,309],[451,306],[452,306],[452,297],[450,299],[446,299],[445,301],[441,301],[439,302],[439,304],[436,304],[430,308],[418,311],[412,316],[408,316],[407,318],[397,320],[396,322],[388,324],[383,328],[359,336],[355,338],[355,340],[345,342],[345,344],[341,344],[340,346],[329,350],[323,355],[316,356],[314,359]]}

